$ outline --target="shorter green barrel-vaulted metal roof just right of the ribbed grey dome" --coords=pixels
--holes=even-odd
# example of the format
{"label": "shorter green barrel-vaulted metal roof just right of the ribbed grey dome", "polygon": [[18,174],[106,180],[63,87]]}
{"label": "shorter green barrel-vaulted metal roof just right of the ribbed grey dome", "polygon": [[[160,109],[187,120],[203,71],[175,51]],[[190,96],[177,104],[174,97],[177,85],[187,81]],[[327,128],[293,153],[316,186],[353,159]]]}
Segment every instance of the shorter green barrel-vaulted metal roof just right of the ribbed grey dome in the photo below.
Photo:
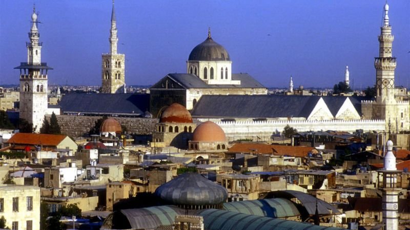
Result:
{"label": "shorter green barrel-vaulted metal roof just right of the ribbed grey dome", "polygon": [[300,215],[295,204],[284,198],[229,202],[223,204],[223,209],[231,212],[273,218]]}

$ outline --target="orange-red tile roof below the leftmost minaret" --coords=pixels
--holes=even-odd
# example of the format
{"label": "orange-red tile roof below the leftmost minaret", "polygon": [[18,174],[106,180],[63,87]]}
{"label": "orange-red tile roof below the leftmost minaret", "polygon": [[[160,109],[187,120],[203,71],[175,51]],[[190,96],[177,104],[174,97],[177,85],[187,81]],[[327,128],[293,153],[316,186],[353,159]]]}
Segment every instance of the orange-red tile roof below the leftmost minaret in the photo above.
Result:
{"label": "orange-red tile roof below the leftmost minaret", "polygon": [[6,143],[17,145],[57,146],[66,137],[66,135],[54,134],[16,133]]}

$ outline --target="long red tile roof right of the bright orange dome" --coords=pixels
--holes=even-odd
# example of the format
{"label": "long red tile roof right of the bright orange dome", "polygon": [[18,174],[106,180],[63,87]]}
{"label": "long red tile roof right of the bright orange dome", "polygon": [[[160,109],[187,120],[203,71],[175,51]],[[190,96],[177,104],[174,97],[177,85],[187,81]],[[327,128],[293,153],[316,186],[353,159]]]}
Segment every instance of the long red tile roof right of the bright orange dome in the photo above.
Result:
{"label": "long red tile roof right of the bright orange dome", "polygon": [[309,152],[317,152],[315,148],[305,146],[283,146],[268,144],[238,143],[234,144],[228,153],[255,153],[304,157]]}

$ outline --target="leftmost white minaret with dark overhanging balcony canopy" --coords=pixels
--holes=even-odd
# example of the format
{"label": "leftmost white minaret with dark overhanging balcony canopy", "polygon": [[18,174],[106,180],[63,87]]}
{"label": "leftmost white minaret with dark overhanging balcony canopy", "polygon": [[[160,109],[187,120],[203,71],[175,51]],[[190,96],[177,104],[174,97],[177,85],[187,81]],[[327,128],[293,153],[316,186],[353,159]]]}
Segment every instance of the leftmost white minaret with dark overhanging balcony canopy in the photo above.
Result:
{"label": "leftmost white minaret with dark overhanging balcony canopy", "polygon": [[31,15],[32,25],[29,32],[30,41],[26,42],[27,62],[15,67],[20,70],[20,112],[19,117],[33,124],[38,132],[47,113],[47,72],[52,70],[41,60],[43,42],[39,42],[37,14],[35,6]]}

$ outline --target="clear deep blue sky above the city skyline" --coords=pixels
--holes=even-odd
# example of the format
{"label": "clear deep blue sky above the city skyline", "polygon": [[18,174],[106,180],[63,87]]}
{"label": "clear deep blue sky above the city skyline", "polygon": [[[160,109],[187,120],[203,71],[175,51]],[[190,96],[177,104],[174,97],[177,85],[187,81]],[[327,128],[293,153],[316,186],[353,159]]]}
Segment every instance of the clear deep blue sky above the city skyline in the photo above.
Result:
{"label": "clear deep blue sky above the city skyline", "polygon": [[[101,54],[109,51],[110,0],[0,0],[0,84],[18,84],[13,67],[27,61],[32,5],[39,12],[42,61],[49,84],[100,85]],[[185,73],[195,45],[223,45],[233,73],[267,87],[332,87],[350,69],[354,88],[375,82],[374,57],[382,0],[363,1],[131,1],[116,0],[118,52],[126,54],[126,83],[148,85]],[[396,85],[410,86],[410,1],[389,1],[395,35]]]}

